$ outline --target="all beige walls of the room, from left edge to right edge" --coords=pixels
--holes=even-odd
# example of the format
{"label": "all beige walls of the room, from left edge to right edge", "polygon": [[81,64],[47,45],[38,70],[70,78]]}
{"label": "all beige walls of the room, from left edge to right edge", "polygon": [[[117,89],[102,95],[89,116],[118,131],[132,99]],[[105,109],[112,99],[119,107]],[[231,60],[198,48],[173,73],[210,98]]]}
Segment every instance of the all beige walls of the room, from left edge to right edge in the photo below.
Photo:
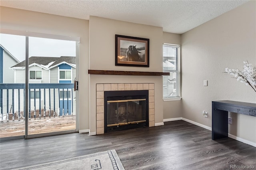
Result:
{"label": "all beige walls of the room, from left edge to right edge", "polygon": [[[184,117],[211,127],[211,101],[228,99],[256,103],[256,94],[250,87],[223,73],[226,67],[242,68],[242,62],[246,60],[256,64],[255,6],[255,1],[248,2],[182,36],[162,32],[159,27],[94,16],[90,16],[89,26],[88,20],[2,6],[0,24],[1,28],[6,29],[80,37],[80,130],[89,129],[91,120],[90,132],[96,131],[96,83],[155,83],[156,123],[162,123],[163,119]],[[150,67],[115,66],[115,34],[149,38]],[[181,44],[180,101],[162,100],[160,76],[87,74],[89,67],[106,70],[162,71],[162,43]],[[203,80],[208,80],[208,86],[203,86]],[[203,110],[208,111],[208,118],[203,117]],[[230,115],[233,117],[230,133],[255,143],[256,118],[236,113]]]}

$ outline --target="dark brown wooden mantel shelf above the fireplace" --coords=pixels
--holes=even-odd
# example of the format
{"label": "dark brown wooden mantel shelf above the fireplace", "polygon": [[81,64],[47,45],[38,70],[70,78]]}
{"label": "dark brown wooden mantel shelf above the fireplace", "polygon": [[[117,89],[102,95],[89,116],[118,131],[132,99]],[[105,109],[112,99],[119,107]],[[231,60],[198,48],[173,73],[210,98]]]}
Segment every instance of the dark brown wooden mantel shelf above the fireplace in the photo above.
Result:
{"label": "dark brown wooden mantel shelf above the fireplace", "polygon": [[113,70],[88,70],[88,74],[96,74],[96,75],[148,75],[148,76],[170,75],[170,73],[164,73],[164,72],[113,71]]}

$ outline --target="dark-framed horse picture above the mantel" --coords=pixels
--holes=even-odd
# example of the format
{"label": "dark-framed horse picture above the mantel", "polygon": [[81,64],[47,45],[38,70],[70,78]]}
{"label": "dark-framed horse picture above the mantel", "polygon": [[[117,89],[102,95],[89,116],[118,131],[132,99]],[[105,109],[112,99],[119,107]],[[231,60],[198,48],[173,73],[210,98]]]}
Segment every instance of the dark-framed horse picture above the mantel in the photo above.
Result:
{"label": "dark-framed horse picture above the mantel", "polygon": [[116,65],[149,67],[149,39],[116,35]]}

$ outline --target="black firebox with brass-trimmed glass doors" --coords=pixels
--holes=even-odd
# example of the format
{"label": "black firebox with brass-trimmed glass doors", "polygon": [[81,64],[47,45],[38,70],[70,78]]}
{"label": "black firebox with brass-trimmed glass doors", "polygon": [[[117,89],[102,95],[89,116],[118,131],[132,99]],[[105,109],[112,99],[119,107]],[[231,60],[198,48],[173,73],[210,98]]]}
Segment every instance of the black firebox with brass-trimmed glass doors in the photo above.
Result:
{"label": "black firebox with brass-trimmed glass doors", "polygon": [[148,90],[104,91],[104,133],[148,127]]}

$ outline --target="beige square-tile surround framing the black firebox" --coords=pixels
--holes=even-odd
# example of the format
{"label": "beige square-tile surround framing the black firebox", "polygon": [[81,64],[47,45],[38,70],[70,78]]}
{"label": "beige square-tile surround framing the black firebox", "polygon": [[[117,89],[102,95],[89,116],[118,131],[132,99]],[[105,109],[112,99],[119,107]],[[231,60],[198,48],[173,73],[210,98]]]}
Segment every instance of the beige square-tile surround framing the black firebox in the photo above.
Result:
{"label": "beige square-tile surround framing the black firebox", "polygon": [[155,126],[154,83],[96,84],[96,134],[104,133],[104,91],[148,90],[149,127]]}

